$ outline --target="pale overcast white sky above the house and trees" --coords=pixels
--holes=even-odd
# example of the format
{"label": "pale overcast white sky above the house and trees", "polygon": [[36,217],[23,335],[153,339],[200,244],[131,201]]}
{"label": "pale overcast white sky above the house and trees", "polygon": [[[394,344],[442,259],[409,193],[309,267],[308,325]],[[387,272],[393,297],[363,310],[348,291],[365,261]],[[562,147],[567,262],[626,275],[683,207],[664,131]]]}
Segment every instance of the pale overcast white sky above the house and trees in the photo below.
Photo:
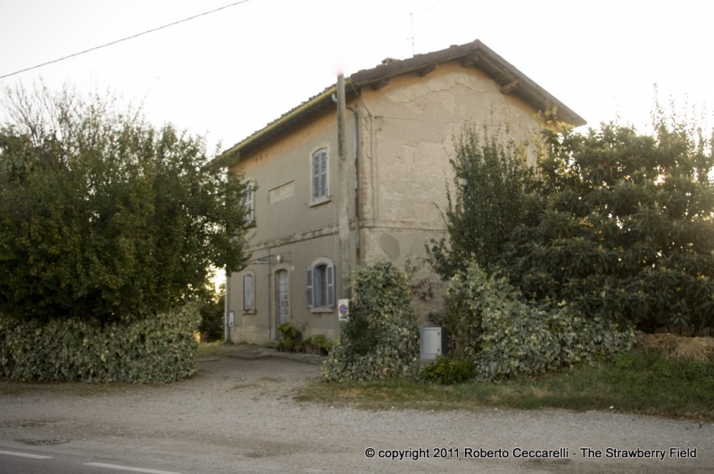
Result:
{"label": "pale overcast white sky above the house and trees", "polygon": [[[237,0],[0,0],[0,76]],[[247,0],[0,79],[108,91],[227,149],[386,57],[480,39],[597,127],[646,129],[670,97],[714,124],[714,2]],[[412,50],[413,38],[413,50]],[[691,112],[692,108],[695,112]]]}

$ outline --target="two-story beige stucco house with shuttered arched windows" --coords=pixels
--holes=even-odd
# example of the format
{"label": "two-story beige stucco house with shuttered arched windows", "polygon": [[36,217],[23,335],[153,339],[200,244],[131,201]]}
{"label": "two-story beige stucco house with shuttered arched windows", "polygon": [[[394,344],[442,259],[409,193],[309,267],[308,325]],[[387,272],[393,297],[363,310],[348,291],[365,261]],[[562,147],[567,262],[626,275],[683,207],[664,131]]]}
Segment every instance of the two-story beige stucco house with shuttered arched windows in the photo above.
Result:
{"label": "two-story beige stucco house with shuttered arched windows", "polygon": [[[345,79],[350,164],[349,253],[338,238],[337,118],[328,87],[230,148],[224,165],[253,183],[253,256],[227,278],[233,341],[262,344],[294,320],[306,336],[338,329],[337,299],[350,266],[386,259],[403,266],[444,233],[452,140],[464,123],[527,137],[536,112],[585,121],[480,41],[386,59]],[[235,154],[237,152],[237,154]],[[353,166],[352,166],[353,165]],[[436,205],[435,205],[436,204]],[[419,315],[423,318],[424,311]]]}

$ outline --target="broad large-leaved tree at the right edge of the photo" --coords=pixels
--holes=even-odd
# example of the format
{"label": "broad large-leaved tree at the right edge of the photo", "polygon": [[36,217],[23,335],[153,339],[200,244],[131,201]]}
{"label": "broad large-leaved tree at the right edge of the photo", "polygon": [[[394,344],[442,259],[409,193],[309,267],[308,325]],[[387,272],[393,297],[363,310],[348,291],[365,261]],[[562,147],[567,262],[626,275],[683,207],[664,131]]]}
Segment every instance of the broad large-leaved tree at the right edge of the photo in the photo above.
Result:
{"label": "broad large-leaved tree at the right edge of the photo", "polygon": [[535,222],[502,255],[540,302],[661,327],[714,324],[712,142],[660,119],[654,136],[602,125],[546,129]]}

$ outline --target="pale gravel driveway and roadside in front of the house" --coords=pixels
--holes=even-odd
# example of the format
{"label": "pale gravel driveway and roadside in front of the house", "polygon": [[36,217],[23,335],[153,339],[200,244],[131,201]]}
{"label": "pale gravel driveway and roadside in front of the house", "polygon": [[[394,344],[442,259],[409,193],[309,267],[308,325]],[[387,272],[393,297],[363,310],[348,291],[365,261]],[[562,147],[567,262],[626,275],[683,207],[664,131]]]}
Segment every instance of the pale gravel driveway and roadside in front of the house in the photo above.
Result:
{"label": "pale gravel driveway and roadside in front of the house", "polygon": [[[714,472],[708,423],[561,410],[364,412],[295,402],[295,388],[318,374],[316,365],[281,358],[217,357],[201,362],[199,376],[166,386],[0,382],[0,450],[161,462],[182,473]],[[375,457],[365,455],[368,448]],[[445,448],[445,458],[435,458],[436,448]],[[665,456],[608,458],[608,448]],[[670,448],[696,449],[696,458],[670,457],[687,453]],[[474,457],[488,451],[502,457]]]}

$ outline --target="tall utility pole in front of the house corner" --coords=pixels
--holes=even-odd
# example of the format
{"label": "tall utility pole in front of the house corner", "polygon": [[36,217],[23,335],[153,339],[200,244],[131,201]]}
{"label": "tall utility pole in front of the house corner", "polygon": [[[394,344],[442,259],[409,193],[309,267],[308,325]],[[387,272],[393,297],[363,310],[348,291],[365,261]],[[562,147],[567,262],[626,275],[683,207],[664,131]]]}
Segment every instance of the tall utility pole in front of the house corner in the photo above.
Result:
{"label": "tall utility pole in front of the house corner", "polygon": [[340,264],[339,271],[342,281],[342,297],[347,298],[345,274],[350,263],[350,216],[349,216],[349,170],[347,162],[347,133],[345,123],[345,76],[337,76],[337,155],[339,156],[339,220]]}

